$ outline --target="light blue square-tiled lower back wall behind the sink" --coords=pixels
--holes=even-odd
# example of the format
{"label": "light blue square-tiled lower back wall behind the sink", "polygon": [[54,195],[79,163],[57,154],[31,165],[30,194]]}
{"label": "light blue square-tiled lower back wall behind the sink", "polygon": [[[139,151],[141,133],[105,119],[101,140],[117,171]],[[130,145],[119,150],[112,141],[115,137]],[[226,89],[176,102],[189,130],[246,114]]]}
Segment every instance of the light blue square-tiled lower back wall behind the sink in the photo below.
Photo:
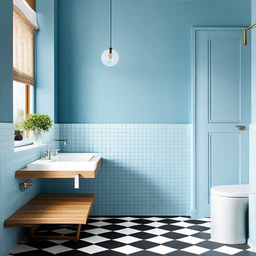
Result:
{"label": "light blue square-tiled lower back wall behind the sink", "polygon": [[44,193],[94,193],[94,215],[189,215],[189,124],[60,124],[62,152],[102,156],[96,178],[44,179]]}

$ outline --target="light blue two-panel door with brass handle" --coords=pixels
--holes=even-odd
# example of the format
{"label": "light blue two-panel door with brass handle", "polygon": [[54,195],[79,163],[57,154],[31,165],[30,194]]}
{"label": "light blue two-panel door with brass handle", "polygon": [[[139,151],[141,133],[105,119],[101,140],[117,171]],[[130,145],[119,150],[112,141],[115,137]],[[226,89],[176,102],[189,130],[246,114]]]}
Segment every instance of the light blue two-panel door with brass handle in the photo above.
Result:
{"label": "light blue two-panel door with brass handle", "polygon": [[197,218],[210,216],[211,187],[249,182],[251,48],[242,37],[242,28],[194,28]]}

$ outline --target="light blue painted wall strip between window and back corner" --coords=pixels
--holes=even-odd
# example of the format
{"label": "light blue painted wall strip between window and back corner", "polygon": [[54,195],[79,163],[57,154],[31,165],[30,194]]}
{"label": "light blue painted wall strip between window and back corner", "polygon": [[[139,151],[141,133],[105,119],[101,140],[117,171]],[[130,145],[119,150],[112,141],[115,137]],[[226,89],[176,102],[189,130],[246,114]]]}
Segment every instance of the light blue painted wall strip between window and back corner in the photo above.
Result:
{"label": "light blue painted wall strip between window and back corner", "polygon": [[54,120],[57,87],[55,7],[55,0],[36,0],[39,24],[36,32],[36,112],[47,114]]}

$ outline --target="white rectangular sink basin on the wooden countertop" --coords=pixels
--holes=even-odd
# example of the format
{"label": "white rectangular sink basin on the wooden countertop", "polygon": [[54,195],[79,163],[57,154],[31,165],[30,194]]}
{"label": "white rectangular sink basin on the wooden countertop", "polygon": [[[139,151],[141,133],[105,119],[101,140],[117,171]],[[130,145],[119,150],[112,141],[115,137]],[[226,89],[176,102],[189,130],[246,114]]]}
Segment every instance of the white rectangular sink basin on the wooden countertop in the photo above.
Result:
{"label": "white rectangular sink basin on the wooden countertop", "polygon": [[101,163],[93,153],[58,153],[50,160],[37,160],[27,165],[28,171],[95,171]]}

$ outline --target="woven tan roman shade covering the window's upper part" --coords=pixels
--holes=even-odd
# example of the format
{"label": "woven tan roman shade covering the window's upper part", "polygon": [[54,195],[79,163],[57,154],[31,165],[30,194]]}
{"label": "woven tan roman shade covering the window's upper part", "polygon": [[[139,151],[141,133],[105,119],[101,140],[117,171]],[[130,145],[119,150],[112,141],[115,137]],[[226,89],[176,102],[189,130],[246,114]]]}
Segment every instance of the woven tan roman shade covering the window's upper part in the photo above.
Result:
{"label": "woven tan roman shade covering the window's upper part", "polygon": [[34,85],[34,33],[33,23],[13,5],[13,80]]}

